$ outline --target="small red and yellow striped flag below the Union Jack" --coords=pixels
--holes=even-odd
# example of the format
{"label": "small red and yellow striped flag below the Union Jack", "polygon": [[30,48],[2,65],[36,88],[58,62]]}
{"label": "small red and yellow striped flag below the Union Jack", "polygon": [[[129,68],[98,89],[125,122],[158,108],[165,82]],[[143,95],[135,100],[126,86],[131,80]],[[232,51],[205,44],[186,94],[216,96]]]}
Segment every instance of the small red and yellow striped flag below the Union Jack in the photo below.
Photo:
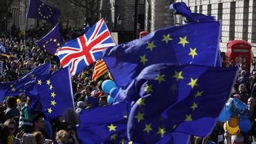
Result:
{"label": "small red and yellow striped flag below the Union Jack", "polygon": [[101,75],[105,74],[106,72],[108,72],[108,67],[106,67],[105,62],[103,61],[103,59],[101,59],[100,61],[96,62],[96,64],[95,64],[92,80],[96,80]]}

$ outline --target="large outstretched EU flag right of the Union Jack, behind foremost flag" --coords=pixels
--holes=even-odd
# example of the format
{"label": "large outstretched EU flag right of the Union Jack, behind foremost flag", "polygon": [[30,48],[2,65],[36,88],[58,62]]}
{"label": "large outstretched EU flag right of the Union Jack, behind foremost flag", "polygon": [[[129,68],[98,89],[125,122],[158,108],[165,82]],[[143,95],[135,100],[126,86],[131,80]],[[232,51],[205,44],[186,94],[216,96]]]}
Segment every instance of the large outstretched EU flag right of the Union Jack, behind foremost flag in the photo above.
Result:
{"label": "large outstretched EU flag right of the Union Jack, behind foremost flag", "polygon": [[151,64],[218,66],[220,23],[194,22],[161,28],[139,40],[103,51],[103,60],[119,86],[126,86]]}

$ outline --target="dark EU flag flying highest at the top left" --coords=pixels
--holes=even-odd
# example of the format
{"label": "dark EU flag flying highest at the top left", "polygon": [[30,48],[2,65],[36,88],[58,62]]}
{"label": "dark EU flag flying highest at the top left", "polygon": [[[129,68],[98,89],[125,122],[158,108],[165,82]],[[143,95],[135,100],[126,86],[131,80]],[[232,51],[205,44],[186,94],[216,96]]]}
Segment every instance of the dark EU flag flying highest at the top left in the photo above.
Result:
{"label": "dark EU flag flying highest at the top left", "polygon": [[40,0],[30,0],[29,2],[27,17],[57,24],[60,14],[61,10],[49,6]]}

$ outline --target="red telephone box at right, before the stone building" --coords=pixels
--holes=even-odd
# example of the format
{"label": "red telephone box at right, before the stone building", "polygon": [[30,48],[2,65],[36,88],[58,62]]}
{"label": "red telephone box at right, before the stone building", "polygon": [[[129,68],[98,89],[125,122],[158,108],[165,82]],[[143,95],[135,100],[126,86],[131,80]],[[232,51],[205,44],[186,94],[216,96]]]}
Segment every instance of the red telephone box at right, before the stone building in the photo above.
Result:
{"label": "red telephone box at right, before the stone building", "polygon": [[250,72],[251,48],[252,45],[247,41],[229,41],[227,44],[226,61],[228,64],[231,61],[234,61],[239,65],[245,63],[245,68]]}

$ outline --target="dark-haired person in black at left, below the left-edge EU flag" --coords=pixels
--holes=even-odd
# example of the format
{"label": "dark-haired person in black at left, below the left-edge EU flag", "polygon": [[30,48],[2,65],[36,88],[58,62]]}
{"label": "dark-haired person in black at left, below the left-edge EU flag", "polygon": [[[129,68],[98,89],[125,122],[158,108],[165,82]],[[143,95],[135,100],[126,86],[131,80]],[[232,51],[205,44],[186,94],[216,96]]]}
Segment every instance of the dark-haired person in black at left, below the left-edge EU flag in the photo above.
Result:
{"label": "dark-haired person in black at left, below the left-edge EU flag", "polygon": [[7,119],[12,119],[12,117],[20,116],[19,109],[16,108],[16,98],[14,96],[9,96],[7,98],[7,109],[4,111]]}

